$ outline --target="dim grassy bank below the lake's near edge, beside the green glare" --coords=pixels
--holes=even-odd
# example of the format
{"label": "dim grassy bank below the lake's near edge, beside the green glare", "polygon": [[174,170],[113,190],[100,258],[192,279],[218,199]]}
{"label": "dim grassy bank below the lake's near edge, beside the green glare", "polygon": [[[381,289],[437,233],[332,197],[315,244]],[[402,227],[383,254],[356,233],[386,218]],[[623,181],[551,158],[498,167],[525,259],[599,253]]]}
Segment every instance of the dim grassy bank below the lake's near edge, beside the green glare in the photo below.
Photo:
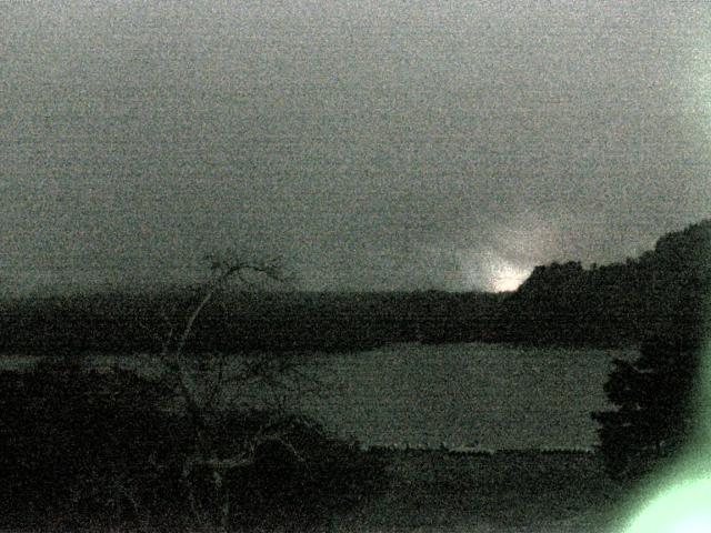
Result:
{"label": "dim grassy bank below the lake's near edge, beside the green glare", "polygon": [[390,484],[338,532],[613,532],[622,489],[578,452],[380,452]]}

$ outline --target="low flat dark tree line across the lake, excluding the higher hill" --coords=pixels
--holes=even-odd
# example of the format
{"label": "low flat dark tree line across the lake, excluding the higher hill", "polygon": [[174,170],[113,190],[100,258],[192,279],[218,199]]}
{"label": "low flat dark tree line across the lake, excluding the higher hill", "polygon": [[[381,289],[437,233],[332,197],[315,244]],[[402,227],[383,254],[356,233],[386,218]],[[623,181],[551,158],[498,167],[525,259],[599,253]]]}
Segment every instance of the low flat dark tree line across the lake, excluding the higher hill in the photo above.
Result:
{"label": "low flat dark tree line across the lake, excluding the higher hill", "polygon": [[[0,302],[0,351],[156,353],[156,332],[184,319],[199,286],[152,293],[102,292],[27,296]],[[196,323],[189,349],[217,351],[352,351],[394,342],[473,341],[501,295],[227,291]]]}

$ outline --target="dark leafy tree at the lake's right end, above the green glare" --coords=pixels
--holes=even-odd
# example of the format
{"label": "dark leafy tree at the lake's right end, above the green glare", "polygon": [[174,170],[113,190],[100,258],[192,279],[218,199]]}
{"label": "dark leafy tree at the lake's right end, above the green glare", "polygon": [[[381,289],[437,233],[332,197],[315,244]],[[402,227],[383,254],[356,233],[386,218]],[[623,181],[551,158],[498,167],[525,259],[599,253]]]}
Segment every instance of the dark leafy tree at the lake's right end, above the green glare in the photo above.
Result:
{"label": "dark leafy tree at the lake's right end, above the green glare", "polygon": [[711,412],[703,345],[701,335],[672,329],[647,339],[635,361],[614,360],[605,384],[614,409],[592,413],[612,479],[639,481],[691,451],[703,413]]}

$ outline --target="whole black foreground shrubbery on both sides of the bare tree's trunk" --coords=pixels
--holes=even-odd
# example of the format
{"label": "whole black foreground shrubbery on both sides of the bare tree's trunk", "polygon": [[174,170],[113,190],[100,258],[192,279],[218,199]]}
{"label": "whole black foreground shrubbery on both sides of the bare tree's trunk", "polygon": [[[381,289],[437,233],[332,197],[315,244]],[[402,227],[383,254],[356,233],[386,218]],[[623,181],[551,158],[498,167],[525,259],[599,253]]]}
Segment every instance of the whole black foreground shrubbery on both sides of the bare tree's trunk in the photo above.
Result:
{"label": "whole black foreground shrubbery on both sides of the bare tree's trunk", "polygon": [[[0,526],[212,529],[211,506],[227,501],[213,494],[219,466],[187,469],[194,428],[170,399],[161,382],[71,361],[0,373]],[[272,414],[221,412],[204,431],[230,456]],[[354,443],[293,414],[281,426],[253,461],[223,469],[229,531],[321,527],[382,485],[381,462]]]}

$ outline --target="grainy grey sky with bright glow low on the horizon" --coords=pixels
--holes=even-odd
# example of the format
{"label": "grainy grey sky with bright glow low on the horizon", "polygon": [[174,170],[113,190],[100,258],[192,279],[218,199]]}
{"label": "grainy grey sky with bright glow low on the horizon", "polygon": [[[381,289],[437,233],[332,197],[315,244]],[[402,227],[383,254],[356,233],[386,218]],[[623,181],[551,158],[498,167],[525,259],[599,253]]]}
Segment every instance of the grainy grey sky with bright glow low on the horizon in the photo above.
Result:
{"label": "grainy grey sky with bright glow low on the horizon", "polygon": [[711,213],[711,4],[0,3],[1,276],[502,289]]}

